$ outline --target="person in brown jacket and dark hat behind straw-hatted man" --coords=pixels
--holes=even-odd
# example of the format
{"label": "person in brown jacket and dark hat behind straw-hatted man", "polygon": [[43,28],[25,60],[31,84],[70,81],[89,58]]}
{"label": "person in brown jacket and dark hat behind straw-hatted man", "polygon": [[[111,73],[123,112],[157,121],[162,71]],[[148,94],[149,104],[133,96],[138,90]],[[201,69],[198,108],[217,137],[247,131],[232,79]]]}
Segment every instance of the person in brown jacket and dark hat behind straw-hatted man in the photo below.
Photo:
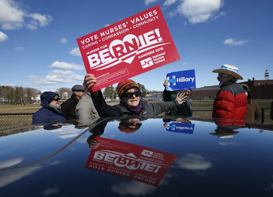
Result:
{"label": "person in brown jacket and dark hat behind straw-hatted man", "polygon": [[262,112],[258,106],[258,104],[252,100],[252,95],[250,93],[250,88],[248,85],[241,84],[243,86],[244,92],[247,96],[248,103],[247,103],[247,110],[245,116],[245,121],[251,121],[251,122],[262,122]]}

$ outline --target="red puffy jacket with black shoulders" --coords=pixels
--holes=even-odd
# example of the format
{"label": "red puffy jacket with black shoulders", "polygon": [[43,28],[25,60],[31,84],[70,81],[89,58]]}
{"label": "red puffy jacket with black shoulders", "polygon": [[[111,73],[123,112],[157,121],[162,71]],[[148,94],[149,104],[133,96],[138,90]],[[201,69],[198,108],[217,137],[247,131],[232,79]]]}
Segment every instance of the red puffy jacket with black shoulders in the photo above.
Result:
{"label": "red puffy jacket with black shoulders", "polygon": [[213,118],[244,120],[246,112],[247,97],[240,84],[231,82],[217,92],[213,103]]}

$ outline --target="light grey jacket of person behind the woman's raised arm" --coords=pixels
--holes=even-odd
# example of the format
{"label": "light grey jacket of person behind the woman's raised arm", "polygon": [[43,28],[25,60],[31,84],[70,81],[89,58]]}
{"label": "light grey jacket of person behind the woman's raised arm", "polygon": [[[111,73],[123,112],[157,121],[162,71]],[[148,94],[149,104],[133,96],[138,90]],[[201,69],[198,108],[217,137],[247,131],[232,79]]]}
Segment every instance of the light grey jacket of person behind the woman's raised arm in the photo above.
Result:
{"label": "light grey jacket of person behind the woman's raised arm", "polygon": [[98,112],[91,99],[90,92],[85,93],[84,97],[78,102],[76,106],[76,116],[77,119],[99,118]]}

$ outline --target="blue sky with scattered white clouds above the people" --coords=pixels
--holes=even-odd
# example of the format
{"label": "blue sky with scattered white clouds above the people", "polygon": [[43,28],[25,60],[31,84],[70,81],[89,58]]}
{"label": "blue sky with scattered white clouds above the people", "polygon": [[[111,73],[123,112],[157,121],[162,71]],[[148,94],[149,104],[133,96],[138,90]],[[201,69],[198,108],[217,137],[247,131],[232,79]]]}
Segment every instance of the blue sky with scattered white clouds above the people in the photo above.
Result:
{"label": "blue sky with scattered white clouds above the people", "polygon": [[[0,0],[0,85],[56,91],[82,84],[77,38],[160,5],[180,60],[132,77],[163,90],[166,74],[195,69],[196,87],[218,85],[223,64],[244,80],[273,79],[271,0]],[[114,84],[116,86],[116,84]]]}

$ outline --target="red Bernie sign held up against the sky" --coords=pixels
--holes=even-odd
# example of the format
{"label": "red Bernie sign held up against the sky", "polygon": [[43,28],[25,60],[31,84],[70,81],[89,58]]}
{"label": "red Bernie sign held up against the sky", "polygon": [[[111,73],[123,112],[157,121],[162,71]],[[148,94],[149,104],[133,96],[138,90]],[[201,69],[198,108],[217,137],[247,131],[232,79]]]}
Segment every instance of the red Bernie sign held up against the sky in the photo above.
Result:
{"label": "red Bernie sign held up against the sky", "polygon": [[180,60],[159,5],[77,39],[93,91]]}

